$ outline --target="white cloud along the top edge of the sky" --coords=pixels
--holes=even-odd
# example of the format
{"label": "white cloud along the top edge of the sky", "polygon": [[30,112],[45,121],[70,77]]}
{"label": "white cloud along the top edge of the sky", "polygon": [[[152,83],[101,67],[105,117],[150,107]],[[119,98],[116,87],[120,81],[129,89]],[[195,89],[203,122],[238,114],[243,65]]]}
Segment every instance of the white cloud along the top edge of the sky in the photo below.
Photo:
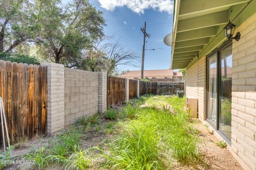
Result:
{"label": "white cloud along the top edge of the sky", "polygon": [[98,0],[101,7],[108,11],[114,11],[116,7],[127,6],[136,13],[144,13],[147,8],[153,8],[160,12],[173,12],[173,1],[171,0]]}

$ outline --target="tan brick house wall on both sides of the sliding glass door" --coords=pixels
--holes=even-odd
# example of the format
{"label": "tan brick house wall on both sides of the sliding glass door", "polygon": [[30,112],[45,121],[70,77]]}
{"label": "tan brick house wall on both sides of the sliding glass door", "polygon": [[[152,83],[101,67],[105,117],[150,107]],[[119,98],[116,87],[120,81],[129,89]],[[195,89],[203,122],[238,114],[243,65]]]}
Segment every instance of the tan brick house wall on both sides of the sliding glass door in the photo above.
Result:
{"label": "tan brick house wall on both sides of the sliding glass door", "polygon": [[[256,169],[256,13],[236,31],[241,33],[241,39],[233,40],[232,45],[231,146],[228,149],[244,169]],[[198,117],[204,123],[205,74],[206,57],[203,57],[187,69],[186,78],[186,95],[198,99]]]}

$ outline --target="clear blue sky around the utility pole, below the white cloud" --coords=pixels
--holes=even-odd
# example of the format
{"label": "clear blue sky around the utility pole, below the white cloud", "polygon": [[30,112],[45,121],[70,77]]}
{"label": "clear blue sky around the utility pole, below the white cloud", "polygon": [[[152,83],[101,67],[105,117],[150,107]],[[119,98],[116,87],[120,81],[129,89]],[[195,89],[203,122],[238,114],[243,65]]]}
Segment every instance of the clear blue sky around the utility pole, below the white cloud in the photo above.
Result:
{"label": "clear blue sky around the utility pole, below the white cloud", "polygon": [[[102,1],[113,2],[113,0],[101,0],[101,2]],[[146,21],[147,32],[151,35],[151,37],[147,39],[148,43],[146,43],[146,49],[155,48],[156,50],[145,51],[145,70],[170,68],[171,48],[163,43],[164,37],[172,31],[173,14],[172,10],[170,11],[170,7],[167,9],[169,10],[168,12],[162,11],[162,9],[157,7],[155,9],[145,7],[142,8],[143,13],[138,13],[134,12],[138,10],[138,7],[135,7],[134,10],[132,9],[133,7],[129,7],[129,4],[116,6],[114,10],[112,9],[111,11],[107,9],[108,6],[101,7],[102,3],[98,0],[90,0],[90,2],[98,10],[103,12],[107,23],[107,27],[104,29],[105,35],[115,35],[115,41],[121,43],[125,50],[135,50],[140,56],[142,54],[143,45],[143,35],[140,28]],[[109,6],[113,7],[113,4]],[[140,66],[140,64],[138,65]],[[140,67],[122,66],[120,69],[140,70]]]}

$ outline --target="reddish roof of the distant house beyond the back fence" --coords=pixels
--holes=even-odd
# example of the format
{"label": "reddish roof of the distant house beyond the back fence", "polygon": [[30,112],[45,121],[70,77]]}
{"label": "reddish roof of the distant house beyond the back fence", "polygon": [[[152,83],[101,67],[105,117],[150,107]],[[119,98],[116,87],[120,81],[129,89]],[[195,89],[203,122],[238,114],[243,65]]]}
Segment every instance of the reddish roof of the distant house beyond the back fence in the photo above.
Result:
{"label": "reddish roof of the distant house beyond the back fence", "polygon": [[[120,77],[122,78],[140,78],[141,71],[128,71],[122,74]],[[175,77],[175,76],[182,76],[181,72],[173,72],[173,70],[145,70],[144,77]]]}

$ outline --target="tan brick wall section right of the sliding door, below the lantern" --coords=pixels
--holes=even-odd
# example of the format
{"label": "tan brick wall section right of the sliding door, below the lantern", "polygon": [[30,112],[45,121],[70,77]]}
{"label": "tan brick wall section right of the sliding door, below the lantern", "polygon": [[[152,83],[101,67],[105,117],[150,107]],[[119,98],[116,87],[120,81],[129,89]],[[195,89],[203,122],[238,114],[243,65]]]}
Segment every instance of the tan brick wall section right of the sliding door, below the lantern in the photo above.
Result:
{"label": "tan brick wall section right of the sliding door, below the lantern", "polygon": [[236,31],[241,39],[232,46],[231,148],[244,169],[256,169],[256,13]]}

